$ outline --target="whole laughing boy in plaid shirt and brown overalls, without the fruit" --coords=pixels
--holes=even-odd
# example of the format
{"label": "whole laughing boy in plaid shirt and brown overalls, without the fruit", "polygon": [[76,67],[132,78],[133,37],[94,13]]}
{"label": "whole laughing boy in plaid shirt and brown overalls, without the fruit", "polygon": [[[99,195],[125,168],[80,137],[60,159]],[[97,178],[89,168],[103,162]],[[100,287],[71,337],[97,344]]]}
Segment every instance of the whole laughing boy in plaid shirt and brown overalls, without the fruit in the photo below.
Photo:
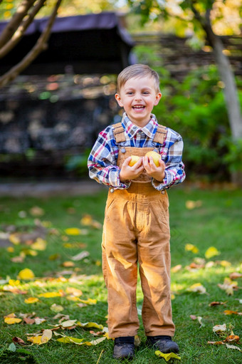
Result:
{"label": "whole laughing boy in plaid shirt and brown overalls, without the fruit", "polygon": [[[108,330],[113,358],[132,359],[139,328],[137,263],[147,344],[177,353],[170,298],[169,201],[166,189],[185,178],[181,136],[158,125],[159,76],[149,66],[125,68],[115,98],[122,123],[100,132],[88,159],[90,178],[110,187],[102,235],[102,271],[107,286]],[[159,166],[145,154],[156,150]],[[140,159],[130,167],[131,155]]]}

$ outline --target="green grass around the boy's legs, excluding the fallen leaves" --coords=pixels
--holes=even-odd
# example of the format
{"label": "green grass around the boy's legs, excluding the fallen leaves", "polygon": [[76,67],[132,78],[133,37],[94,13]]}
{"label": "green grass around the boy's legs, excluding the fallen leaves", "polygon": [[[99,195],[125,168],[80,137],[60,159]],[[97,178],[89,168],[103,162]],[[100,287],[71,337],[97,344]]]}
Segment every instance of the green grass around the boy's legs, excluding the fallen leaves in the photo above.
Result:
{"label": "green grass around the boy's legs, excluding the fallen leaves", "polygon": [[[7,246],[0,248],[0,279],[17,279],[19,271],[23,268],[31,269],[36,278],[32,281],[21,281],[18,286],[26,294],[14,294],[4,291],[6,284],[0,285],[0,363],[20,364],[115,364],[112,359],[112,340],[105,340],[96,346],[78,346],[70,343],[60,343],[54,336],[43,345],[31,345],[26,341],[26,333],[36,333],[41,329],[51,328],[56,325],[56,315],[51,311],[53,303],[60,304],[64,310],[61,312],[69,315],[70,319],[77,319],[81,323],[94,321],[107,326],[107,291],[102,279],[100,267],[102,230],[93,227],[83,227],[80,219],[83,214],[91,214],[95,220],[102,223],[106,192],[102,191],[95,196],[80,197],[53,197],[46,199],[0,199],[0,232],[7,229],[17,229],[20,232],[33,232],[36,228],[36,217],[30,214],[31,207],[41,207],[45,214],[38,217],[41,222],[48,222],[48,234],[46,250],[38,251],[38,255],[27,255],[22,263],[14,263],[11,258],[19,256],[21,250],[31,249],[31,245],[9,244],[14,247],[13,252],[7,251]],[[173,318],[177,331],[175,339],[179,343],[181,360],[171,360],[169,363],[182,364],[233,364],[241,363],[242,353],[238,350],[228,349],[226,345],[208,345],[209,340],[221,340],[213,333],[213,326],[226,323],[233,326],[233,333],[241,336],[241,316],[223,313],[224,310],[241,312],[241,291],[233,291],[233,296],[228,296],[219,288],[224,278],[234,271],[241,272],[241,236],[242,236],[242,191],[223,189],[192,189],[189,187],[174,187],[169,191],[170,199],[170,226],[171,226],[171,252],[172,267],[181,264],[177,273],[172,273],[172,300]],[[186,209],[186,201],[201,200],[201,206],[194,209]],[[21,214],[19,214],[21,212]],[[25,213],[23,213],[25,212]],[[23,216],[23,217],[21,217]],[[10,227],[10,228],[9,228]],[[87,234],[67,236],[65,229],[78,227],[87,229]],[[65,239],[68,237],[68,241]],[[69,243],[72,247],[66,247]],[[86,244],[79,247],[78,244]],[[194,244],[199,252],[194,254],[184,249],[186,244]],[[189,271],[187,266],[194,258],[204,259],[204,254],[210,246],[216,246],[220,251],[219,256],[214,256],[208,261],[214,261],[214,265],[206,268]],[[80,251],[89,251],[90,256],[81,261],[75,261],[75,266],[64,267],[63,262],[71,261],[71,257]],[[49,259],[56,254],[56,259]],[[230,265],[223,266],[221,261],[228,261]],[[73,274],[65,274],[63,271],[73,271]],[[65,281],[58,280],[59,275],[65,277]],[[70,277],[78,277],[76,280]],[[39,281],[36,284],[36,281]],[[242,286],[238,279],[238,286]],[[186,291],[192,284],[201,283],[206,288],[207,294],[199,294]],[[39,293],[46,291],[65,291],[68,287],[79,288],[83,291],[81,299],[96,298],[97,304],[93,306],[78,307],[75,301],[69,301],[65,296],[56,298],[39,298],[40,301],[33,304],[24,302],[30,296],[37,297]],[[226,302],[226,306],[210,307],[212,301]],[[137,287],[137,306],[142,307],[142,292],[140,284]],[[21,313],[36,313],[40,318],[46,318],[41,325],[29,325],[16,323],[7,325],[4,316],[15,313],[17,317]],[[202,317],[203,326],[199,321],[191,320],[190,315]],[[92,330],[92,329],[89,329]],[[68,336],[94,340],[88,329],[76,327],[73,330],[65,330]],[[93,329],[97,331],[97,329]],[[228,334],[231,332],[228,331]],[[9,350],[12,338],[17,336],[26,341],[29,346],[16,344],[16,351]],[[145,337],[142,330],[140,317],[140,348],[137,348],[134,364],[166,363],[164,359],[154,355],[154,350],[146,348]],[[233,344],[231,345],[237,345]],[[125,363],[125,361],[123,362]]]}

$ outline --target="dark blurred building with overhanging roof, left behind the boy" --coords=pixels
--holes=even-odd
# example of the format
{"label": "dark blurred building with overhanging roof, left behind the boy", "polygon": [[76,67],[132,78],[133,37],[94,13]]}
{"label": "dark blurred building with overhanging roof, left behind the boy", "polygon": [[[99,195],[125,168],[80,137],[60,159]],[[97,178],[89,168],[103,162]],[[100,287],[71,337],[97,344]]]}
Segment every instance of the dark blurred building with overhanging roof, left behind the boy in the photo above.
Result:
{"label": "dark blurred building with overhanging roof, left behind the boy", "polygon": [[[1,60],[21,61],[46,26],[36,19]],[[6,25],[0,24],[0,32]],[[75,163],[112,123],[117,73],[135,63],[132,38],[115,13],[57,18],[48,48],[0,89],[0,177],[73,176]]]}

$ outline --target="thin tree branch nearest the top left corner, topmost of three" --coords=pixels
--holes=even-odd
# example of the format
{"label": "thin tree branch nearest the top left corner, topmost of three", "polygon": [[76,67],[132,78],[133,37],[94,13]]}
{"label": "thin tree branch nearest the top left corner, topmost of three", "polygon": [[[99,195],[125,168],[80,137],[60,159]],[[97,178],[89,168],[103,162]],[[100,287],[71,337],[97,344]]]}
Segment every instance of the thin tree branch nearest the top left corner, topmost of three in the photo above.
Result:
{"label": "thin tree branch nearest the top left corner, topmost of three", "polygon": [[23,0],[21,4],[18,6],[16,13],[9,21],[9,23],[6,24],[4,30],[1,32],[0,48],[4,46],[6,42],[9,41],[11,36],[13,36],[16,29],[19,27],[19,24],[21,24],[21,21],[23,20],[24,16],[28,14],[28,10],[31,8],[31,6],[34,4],[35,1],[36,0]]}

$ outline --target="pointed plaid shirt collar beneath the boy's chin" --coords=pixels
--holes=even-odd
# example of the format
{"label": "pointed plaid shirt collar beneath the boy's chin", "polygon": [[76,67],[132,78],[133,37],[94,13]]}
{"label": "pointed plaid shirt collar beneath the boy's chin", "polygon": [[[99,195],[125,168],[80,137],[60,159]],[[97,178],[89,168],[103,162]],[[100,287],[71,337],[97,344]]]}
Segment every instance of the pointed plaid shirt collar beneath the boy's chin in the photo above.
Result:
{"label": "pointed plaid shirt collar beneath the boy's chin", "polygon": [[139,130],[142,130],[142,132],[144,132],[147,137],[153,139],[155,133],[157,132],[158,122],[154,114],[151,114],[150,117],[149,123],[147,123],[144,128],[139,128],[137,125],[133,124],[128,118],[127,114],[124,113],[122,115],[122,127],[125,129],[125,132],[127,133],[128,137],[130,137],[130,139],[135,137]]}

